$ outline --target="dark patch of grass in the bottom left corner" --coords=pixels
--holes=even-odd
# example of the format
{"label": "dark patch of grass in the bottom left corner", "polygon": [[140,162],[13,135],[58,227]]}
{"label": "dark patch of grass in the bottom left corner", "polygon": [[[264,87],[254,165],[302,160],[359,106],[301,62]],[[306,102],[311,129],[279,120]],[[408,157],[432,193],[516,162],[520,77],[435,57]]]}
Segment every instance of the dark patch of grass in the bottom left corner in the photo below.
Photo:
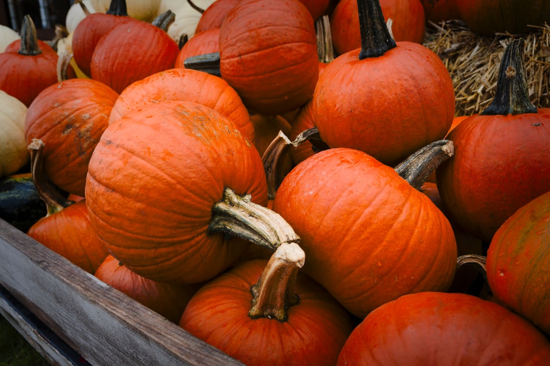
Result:
{"label": "dark patch of grass in the bottom left corner", "polygon": [[0,366],[42,365],[50,363],[0,315]]}

